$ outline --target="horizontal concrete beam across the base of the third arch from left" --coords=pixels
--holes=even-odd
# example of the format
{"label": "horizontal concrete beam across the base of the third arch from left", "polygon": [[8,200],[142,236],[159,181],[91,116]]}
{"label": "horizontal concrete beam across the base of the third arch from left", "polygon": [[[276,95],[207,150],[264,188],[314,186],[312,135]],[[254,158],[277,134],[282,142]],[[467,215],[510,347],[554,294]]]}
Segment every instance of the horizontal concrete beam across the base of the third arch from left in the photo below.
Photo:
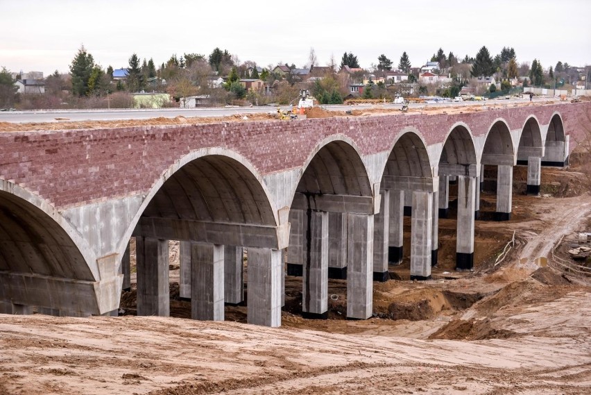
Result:
{"label": "horizontal concrete beam across the base of the third arch from left", "polygon": [[292,210],[318,210],[325,212],[354,212],[356,214],[375,214],[373,196],[335,195],[335,194],[302,194],[297,192],[291,203]]}

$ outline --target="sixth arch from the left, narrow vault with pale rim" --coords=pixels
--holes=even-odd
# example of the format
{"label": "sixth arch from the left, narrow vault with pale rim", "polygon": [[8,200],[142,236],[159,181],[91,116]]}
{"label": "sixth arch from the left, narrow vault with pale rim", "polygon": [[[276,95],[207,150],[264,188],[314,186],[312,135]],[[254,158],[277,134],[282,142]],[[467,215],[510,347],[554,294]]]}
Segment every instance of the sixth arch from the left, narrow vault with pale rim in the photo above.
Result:
{"label": "sixth arch from the left, narrow vault with pale rim", "polygon": [[508,123],[497,118],[493,121],[482,149],[482,165],[515,165],[515,147]]}

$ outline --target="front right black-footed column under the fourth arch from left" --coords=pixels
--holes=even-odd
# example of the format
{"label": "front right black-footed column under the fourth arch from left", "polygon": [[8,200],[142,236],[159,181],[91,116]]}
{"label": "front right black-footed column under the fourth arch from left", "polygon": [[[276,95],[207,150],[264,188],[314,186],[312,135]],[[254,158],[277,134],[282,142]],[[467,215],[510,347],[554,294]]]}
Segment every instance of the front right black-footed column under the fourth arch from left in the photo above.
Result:
{"label": "front right black-footed column under the fourth arch from left", "polygon": [[411,228],[411,280],[431,278],[433,193],[413,192]]}

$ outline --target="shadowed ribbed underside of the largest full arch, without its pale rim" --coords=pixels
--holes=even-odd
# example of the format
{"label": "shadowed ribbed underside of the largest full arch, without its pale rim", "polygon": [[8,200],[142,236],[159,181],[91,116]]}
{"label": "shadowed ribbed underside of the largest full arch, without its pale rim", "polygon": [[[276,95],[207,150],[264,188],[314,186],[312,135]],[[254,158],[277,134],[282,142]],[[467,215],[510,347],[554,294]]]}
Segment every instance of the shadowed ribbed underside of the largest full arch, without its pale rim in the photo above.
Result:
{"label": "shadowed ribbed underside of the largest full arch, without its pale rim", "polygon": [[259,180],[237,160],[220,155],[198,158],[176,171],[142,217],[275,225]]}

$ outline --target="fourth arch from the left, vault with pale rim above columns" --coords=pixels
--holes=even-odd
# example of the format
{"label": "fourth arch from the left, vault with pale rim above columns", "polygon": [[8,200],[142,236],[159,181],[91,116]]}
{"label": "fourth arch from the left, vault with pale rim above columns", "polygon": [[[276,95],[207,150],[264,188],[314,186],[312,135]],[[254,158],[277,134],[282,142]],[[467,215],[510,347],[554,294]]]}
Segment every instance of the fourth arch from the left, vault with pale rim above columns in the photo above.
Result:
{"label": "fourth arch from the left, vault with pale rim above columns", "polygon": [[382,176],[433,176],[425,138],[416,128],[402,129],[392,142],[388,152],[388,158],[382,168]]}

